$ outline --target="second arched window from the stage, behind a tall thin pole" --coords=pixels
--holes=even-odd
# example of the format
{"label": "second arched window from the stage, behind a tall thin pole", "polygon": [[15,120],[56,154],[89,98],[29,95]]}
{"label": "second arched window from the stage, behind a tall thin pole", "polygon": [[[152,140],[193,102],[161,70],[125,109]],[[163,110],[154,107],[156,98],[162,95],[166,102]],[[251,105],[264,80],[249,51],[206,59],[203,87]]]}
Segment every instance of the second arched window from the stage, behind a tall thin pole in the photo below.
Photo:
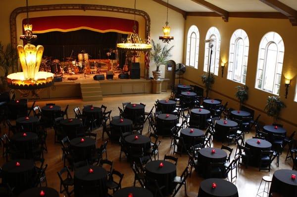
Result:
{"label": "second arched window from the stage, behind a tall thin pole", "polygon": [[221,36],[220,36],[219,30],[215,27],[209,28],[209,30],[206,33],[205,39],[214,39],[214,41],[205,43],[203,71],[208,72],[208,64],[209,64],[209,56],[210,56],[209,45],[213,45],[210,73],[213,73],[214,75],[218,75],[219,61],[220,61],[220,45],[221,45]]}

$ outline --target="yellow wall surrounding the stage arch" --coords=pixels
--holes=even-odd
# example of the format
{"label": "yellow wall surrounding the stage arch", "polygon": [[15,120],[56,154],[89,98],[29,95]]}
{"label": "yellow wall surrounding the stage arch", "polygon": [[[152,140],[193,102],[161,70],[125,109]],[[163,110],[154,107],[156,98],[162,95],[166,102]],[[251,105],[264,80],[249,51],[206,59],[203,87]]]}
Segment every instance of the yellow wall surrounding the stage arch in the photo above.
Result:
{"label": "yellow wall surrounding the stage arch", "polygon": [[[134,0],[29,0],[30,5],[48,5],[48,4],[70,4],[70,3],[86,3],[86,4],[100,4],[100,5],[110,5],[110,6],[118,6],[118,7],[128,7],[134,8]],[[10,29],[9,29],[9,16],[10,13],[17,7],[25,6],[25,0],[3,0],[1,1],[1,11],[0,11],[0,40],[3,44],[7,44],[10,42]],[[158,37],[162,35],[162,27],[166,21],[166,7],[160,5],[151,0],[137,0],[136,1],[136,9],[146,11],[150,17],[150,37],[156,41]],[[58,10],[58,11],[49,11],[49,12],[31,12],[29,13],[29,17],[37,17],[37,16],[50,16],[50,15],[95,15],[95,16],[111,16],[111,17],[119,17],[119,18],[128,18],[134,19],[134,15],[131,14],[122,14],[115,12],[104,12],[104,11],[90,11],[90,10]],[[19,14],[17,17],[17,35],[21,33],[21,21],[26,16],[24,13]],[[140,36],[145,39],[145,26],[144,19],[142,17],[136,18],[140,23]],[[184,24],[185,20],[183,16],[171,9],[169,9],[169,25],[171,26],[171,34],[175,37],[173,41],[171,41],[170,45],[175,45],[172,52],[172,59],[177,63],[182,62],[182,53],[183,53],[183,43],[184,43]],[[34,27],[33,27],[34,31]],[[20,40],[18,40],[19,43]],[[163,43],[162,43],[163,45]],[[144,56],[140,59],[141,64],[141,75],[144,76]],[[153,61],[150,63],[150,71],[155,70],[155,65]],[[164,66],[161,67],[161,70],[164,71]],[[164,73],[164,72],[163,72]],[[150,76],[152,76],[150,72]]]}

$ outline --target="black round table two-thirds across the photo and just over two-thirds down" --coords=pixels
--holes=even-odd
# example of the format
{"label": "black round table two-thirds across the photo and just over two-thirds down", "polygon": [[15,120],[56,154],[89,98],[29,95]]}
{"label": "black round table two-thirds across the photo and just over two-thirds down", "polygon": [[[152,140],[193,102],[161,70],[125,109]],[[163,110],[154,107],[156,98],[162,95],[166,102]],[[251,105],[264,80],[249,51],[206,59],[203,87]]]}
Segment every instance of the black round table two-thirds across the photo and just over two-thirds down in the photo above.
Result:
{"label": "black round table two-thirds across the photo and just over two-thirds down", "polygon": [[[191,130],[193,132],[191,132]],[[203,137],[204,132],[197,128],[185,128],[181,130],[181,137],[183,137],[187,150],[190,150],[191,146],[196,145],[198,142],[195,138]],[[202,142],[201,142],[202,143]]]}

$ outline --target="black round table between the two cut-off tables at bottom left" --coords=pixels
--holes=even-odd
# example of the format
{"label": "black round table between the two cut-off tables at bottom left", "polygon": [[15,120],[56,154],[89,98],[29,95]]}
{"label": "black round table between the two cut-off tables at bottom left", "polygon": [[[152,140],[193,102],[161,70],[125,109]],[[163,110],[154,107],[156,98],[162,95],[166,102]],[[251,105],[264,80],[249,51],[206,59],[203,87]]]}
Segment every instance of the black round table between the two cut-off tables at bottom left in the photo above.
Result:
{"label": "black round table between the two cut-off tables at bottom left", "polygon": [[[90,173],[90,168],[93,172]],[[98,195],[107,197],[107,172],[100,166],[83,166],[74,172],[74,194],[76,197],[84,195]]]}

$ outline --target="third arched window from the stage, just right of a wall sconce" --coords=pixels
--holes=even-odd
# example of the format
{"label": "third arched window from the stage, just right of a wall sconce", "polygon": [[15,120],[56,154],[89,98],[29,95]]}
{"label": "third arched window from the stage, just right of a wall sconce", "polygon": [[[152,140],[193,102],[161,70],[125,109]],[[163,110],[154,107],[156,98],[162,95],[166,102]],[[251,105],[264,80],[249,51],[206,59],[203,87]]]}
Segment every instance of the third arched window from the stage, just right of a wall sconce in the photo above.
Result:
{"label": "third arched window from the stage, just right of a wall sconce", "polygon": [[227,79],[246,84],[248,45],[247,33],[236,30],[230,39]]}

